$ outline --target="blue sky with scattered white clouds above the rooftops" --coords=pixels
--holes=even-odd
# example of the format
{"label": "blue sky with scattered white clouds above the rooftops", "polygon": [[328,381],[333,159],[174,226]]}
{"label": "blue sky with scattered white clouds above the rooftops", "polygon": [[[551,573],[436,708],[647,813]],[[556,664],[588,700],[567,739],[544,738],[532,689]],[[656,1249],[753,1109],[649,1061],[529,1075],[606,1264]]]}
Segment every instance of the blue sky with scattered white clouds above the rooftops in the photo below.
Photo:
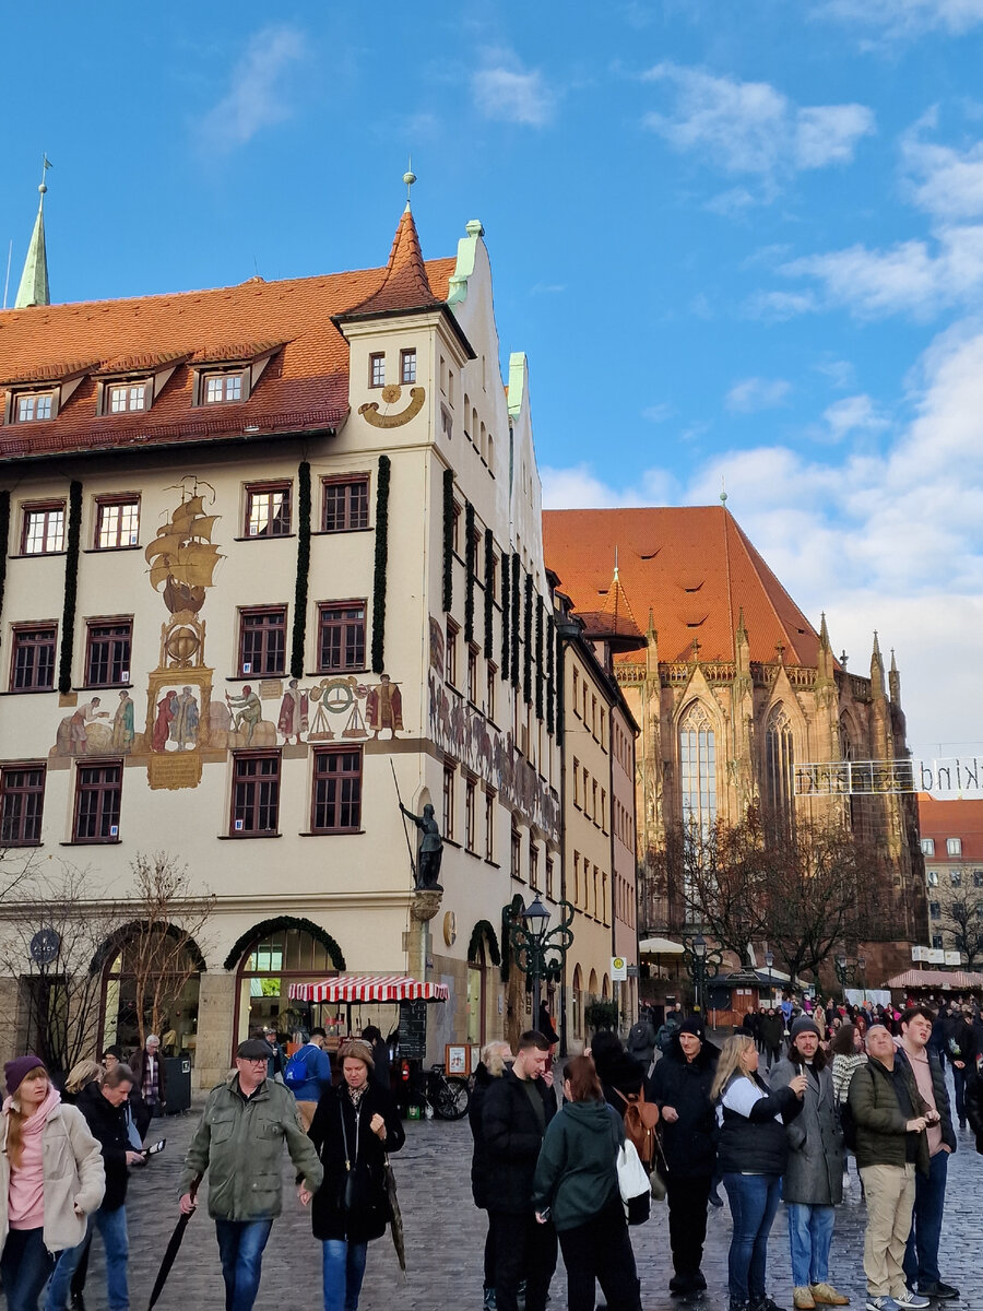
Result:
{"label": "blue sky with scattered white clouds above the rooftops", "polygon": [[485,224],[547,503],[725,479],[912,743],[979,746],[983,0],[93,12],[5,20],[14,286],[42,151],[56,300],[377,265],[412,151],[425,253]]}

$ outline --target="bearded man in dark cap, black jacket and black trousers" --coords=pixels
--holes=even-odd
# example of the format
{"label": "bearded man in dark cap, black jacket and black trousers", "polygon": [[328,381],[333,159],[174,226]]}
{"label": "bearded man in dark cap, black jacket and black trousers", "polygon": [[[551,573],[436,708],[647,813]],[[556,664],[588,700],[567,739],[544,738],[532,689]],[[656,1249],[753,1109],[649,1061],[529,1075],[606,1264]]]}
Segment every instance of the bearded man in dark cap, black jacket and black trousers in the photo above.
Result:
{"label": "bearded man in dark cap, black jacket and black trousers", "polygon": [[668,1242],[675,1270],[668,1281],[670,1293],[700,1293],[706,1287],[700,1265],[706,1201],[717,1164],[710,1084],[718,1055],[717,1047],[706,1042],[700,1021],[684,1020],[645,1088],[645,1100],[654,1101],[662,1116]]}

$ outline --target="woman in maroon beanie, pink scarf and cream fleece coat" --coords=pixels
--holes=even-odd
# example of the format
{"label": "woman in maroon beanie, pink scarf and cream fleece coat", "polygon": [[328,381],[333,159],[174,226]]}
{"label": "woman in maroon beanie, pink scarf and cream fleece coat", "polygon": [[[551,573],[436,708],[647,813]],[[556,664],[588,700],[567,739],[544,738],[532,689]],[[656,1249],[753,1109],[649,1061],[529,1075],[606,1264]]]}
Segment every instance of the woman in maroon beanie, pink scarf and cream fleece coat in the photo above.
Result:
{"label": "woman in maroon beanie, pink scarf and cream fleece coat", "polygon": [[106,1190],[100,1145],[66,1106],[38,1057],[4,1066],[0,1113],[0,1277],[7,1311],[37,1311],[54,1253],[85,1238],[85,1217]]}

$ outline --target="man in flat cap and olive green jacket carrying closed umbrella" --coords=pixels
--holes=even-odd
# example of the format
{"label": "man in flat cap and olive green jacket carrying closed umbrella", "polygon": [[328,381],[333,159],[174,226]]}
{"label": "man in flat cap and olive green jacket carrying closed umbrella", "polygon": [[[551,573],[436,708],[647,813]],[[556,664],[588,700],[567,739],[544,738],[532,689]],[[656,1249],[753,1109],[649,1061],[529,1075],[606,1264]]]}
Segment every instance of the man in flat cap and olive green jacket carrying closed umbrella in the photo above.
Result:
{"label": "man in flat cap and olive green jacket carrying closed umbrella", "polygon": [[263,1248],[282,1205],[284,1139],[309,1193],[324,1177],[292,1092],[266,1078],[269,1058],[261,1038],[239,1044],[236,1074],[208,1095],[181,1176],[181,1211],[189,1215],[195,1207],[193,1189],[211,1171],[208,1214],[219,1240],[227,1311],[252,1311],[260,1291]]}

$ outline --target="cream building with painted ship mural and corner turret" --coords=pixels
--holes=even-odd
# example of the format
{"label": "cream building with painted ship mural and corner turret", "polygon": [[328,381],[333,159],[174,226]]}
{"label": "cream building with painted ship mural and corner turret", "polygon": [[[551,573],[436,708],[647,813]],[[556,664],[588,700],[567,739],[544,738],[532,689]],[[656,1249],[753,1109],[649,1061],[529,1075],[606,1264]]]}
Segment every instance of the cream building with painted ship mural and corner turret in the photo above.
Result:
{"label": "cream building with painted ship mural and corner turret", "polygon": [[[612,890],[620,703],[590,670],[570,751],[590,742],[604,801],[574,806],[590,877],[565,876],[528,374],[512,354],[503,385],[481,224],[423,261],[408,205],[388,264],[354,273],[60,305],[43,286],[0,315],[0,825],[5,868],[29,865],[0,915],[1,1054],[43,1037],[38,977],[83,965],[93,1045],[136,1041],[132,863],[157,851],[215,898],[161,1024],[197,1087],[250,1028],[307,1019],[290,985],[338,971],[447,985],[431,1057],[502,1033],[503,907],[539,888],[556,914],[564,877],[577,991],[602,995],[633,897]],[[434,806],[439,888],[414,888],[397,789]],[[81,964],[39,890],[72,869],[75,918],[115,916]]]}

